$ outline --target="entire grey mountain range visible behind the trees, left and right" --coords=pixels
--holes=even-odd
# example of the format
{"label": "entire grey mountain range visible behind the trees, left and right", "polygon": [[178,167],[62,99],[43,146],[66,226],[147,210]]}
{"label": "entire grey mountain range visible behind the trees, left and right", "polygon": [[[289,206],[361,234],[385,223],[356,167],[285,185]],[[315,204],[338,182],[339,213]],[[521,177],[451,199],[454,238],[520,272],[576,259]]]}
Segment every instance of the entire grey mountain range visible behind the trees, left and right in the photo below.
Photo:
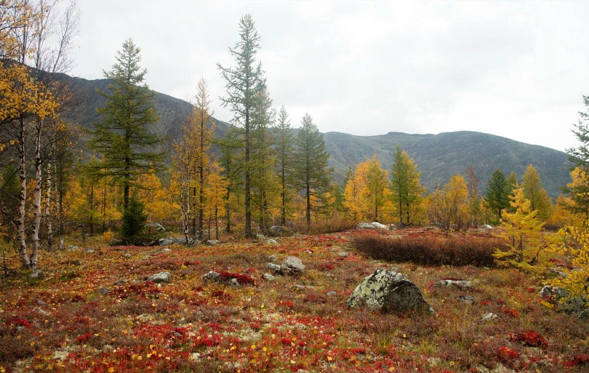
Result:
{"label": "entire grey mountain range visible behind the trees, left and right", "polygon": [[[99,119],[96,108],[104,104],[97,89],[107,91],[108,79],[87,80],[60,74],[59,79],[72,90],[71,110],[65,115],[67,121],[85,128]],[[190,112],[188,102],[154,92],[155,110],[161,116],[155,131],[168,136],[168,144],[180,137],[181,128]],[[229,128],[229,124],[215,119],[217,137]],[[386,135],[355,136],[340,132],[323,134],[330,165],[335,169],[333,179],[341,183],[349,165],[365,161],[373,154],[378,156],[383,168],[391,169],[395,146],[399,145],[415,159],[421,171],[421,181],[429,191],[448,182],[452,175],[464,175],[468,166],[473,166],[481,178],[480,189],[484,194],[487,179],[495,168],[505,174],[514,171],[521,178],[528,164],[538,169],[544,188],[552,198],[560,193],[560,186],[570,179],[568,155],[545,146],[530,145],[512,139],[484,134],[482,132],[458,131],[441,134],[405,134],[389,132]]]}

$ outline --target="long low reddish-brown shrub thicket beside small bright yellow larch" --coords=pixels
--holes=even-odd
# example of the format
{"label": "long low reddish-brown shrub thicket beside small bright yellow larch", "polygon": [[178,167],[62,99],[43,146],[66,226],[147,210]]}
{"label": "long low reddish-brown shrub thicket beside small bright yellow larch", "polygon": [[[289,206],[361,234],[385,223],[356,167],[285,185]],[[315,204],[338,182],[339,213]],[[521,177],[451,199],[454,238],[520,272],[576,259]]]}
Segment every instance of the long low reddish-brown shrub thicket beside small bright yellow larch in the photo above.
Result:
{"label": "long low reddish-brown shrub thicket beside small bright yellow larch", "polygon": [[505,244],[497,238],[386,237],[356,235],[359,251],[375,259],[419,265],[475,265],[492,267],[493,253]]}

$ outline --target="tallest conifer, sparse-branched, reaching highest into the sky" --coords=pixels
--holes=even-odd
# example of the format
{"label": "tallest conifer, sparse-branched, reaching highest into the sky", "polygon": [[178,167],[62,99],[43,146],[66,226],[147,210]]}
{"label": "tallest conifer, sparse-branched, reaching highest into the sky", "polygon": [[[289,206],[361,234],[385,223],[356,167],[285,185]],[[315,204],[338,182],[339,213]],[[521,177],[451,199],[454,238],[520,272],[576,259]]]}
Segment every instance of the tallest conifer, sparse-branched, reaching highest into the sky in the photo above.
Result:
{"label": "tallest conifer, sparse-branched, reaching highest into the sky", "polygon": [[260,36],[257,34],[252,16],[249,14],[241,17],[239,22],[240,40],[229,53],[235,59],[235,66],[225,68],[217,64],[221,76],[227,84],[227,95],[220,98],[223,106],[233,111],[231,123],[243,127],[244,147],[244,211],[245,211],[245,235],[252,237],[252,109],[255,105],[258,92],[266,85],[262,71],[262,64],[256,63],[256,54],[260,49]]}

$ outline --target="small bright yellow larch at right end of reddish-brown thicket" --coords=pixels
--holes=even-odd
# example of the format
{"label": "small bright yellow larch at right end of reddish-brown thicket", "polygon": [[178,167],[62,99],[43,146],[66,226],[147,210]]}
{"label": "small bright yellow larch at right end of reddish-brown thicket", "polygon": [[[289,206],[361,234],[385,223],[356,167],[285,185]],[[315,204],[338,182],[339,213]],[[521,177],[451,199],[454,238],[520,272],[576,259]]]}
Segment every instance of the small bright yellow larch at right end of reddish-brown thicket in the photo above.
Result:
{"label": "small bright yellow larch at right end of reddish-brown thicket", "polygon": [[525,198],[524,188],[515,191],[510,204],[515,212],[504,214],[498,234],[505,239],[507,248],[497,248],[493,256],[501,265],[542,272],[550,259],[547,248],[551,243],[542,232],[544,222],[537,218],[538,211]]}

